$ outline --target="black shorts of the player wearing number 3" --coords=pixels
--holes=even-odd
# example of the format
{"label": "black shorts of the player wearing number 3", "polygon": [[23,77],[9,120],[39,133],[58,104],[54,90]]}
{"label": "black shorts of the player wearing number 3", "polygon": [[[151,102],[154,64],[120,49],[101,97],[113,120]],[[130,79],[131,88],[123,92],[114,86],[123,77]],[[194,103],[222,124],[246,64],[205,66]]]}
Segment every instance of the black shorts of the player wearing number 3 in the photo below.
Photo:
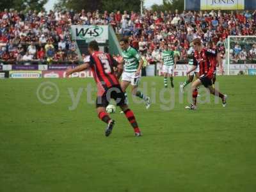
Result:
{"label": "black shorts of the player wearing number 3", "polygon": [[111,88],[108,88],[102,96],[98,96],[96,100],[96,108],[106,108],[111,99],[115,100],[117,106],[124,106],[126,104],[125,95],[120,85],[112,86]]}

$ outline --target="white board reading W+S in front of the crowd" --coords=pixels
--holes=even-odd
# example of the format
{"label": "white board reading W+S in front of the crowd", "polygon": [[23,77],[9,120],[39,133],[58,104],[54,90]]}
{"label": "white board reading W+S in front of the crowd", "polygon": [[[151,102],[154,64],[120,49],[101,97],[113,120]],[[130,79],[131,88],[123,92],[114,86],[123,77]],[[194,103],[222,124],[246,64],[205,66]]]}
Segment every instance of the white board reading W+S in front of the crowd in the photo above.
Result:
{"label": "white board reading W+S in front of the crowd", "polygon": [[75,40],[108,40],[108,26],[71,26],[72,36]]}

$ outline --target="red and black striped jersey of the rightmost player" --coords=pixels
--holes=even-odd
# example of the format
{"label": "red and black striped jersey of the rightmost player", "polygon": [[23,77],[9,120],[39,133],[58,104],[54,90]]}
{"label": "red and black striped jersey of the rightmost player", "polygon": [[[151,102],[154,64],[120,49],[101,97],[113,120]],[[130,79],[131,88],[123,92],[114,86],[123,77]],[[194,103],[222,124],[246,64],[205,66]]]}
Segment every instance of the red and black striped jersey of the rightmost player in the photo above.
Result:
{"label": "red and black striped jersey of the rightmost player", "polygon": [[212,76],[214,66],[216,65],[217,51],[212,49],[202,49],[202,51],[195,51],[193,65],[199,65],[199,75]]}

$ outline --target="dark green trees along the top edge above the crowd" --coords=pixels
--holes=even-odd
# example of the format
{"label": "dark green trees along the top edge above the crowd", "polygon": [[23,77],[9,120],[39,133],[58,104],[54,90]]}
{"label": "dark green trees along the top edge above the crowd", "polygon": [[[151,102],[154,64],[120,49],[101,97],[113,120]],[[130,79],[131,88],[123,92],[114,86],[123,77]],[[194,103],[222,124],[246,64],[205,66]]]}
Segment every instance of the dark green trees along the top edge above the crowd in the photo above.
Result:
{"label": "dark green trees along the top edge above the crowd", "polygon": [[[51,0],[0,0],[0,10],[4,8],[15,10],[44,10],[44,5],[47,1]],[[183,10],[184,1],[181,0],[163,0],[163,4],[152,5],[153,11],[166,11],[171,10]],[[58,3],[54,5],[54,9],[58,10],[74,10],[76,12],[82,9],[86,11],[100,10],[101,12],[107,10],[113,12],[120,10],[124,12],[140,12],[140,0],[58,0]]]}

